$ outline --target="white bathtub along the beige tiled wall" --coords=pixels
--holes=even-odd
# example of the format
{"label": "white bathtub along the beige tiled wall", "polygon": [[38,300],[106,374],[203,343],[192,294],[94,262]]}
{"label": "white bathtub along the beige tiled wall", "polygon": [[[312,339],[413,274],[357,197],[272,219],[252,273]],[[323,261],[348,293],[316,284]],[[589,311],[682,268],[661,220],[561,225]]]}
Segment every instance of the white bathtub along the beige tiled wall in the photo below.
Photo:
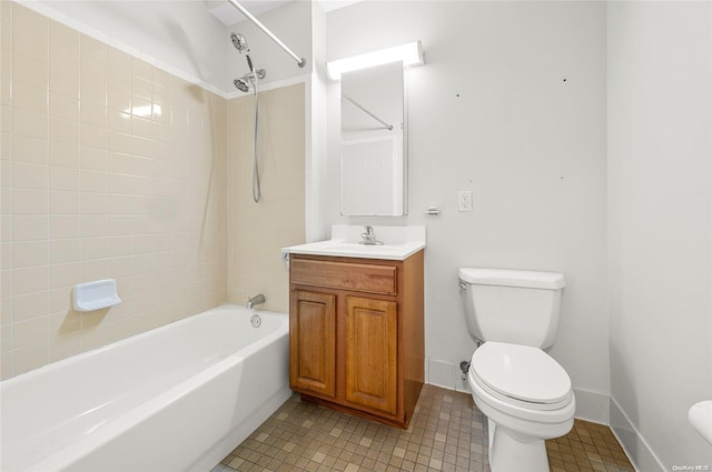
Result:
{"label": "white bathtub along the beige tiled wall", "polygon": [[0,382],[0,470],[209,471],[290,395],[288,317],[254,313],[218,307]]}

